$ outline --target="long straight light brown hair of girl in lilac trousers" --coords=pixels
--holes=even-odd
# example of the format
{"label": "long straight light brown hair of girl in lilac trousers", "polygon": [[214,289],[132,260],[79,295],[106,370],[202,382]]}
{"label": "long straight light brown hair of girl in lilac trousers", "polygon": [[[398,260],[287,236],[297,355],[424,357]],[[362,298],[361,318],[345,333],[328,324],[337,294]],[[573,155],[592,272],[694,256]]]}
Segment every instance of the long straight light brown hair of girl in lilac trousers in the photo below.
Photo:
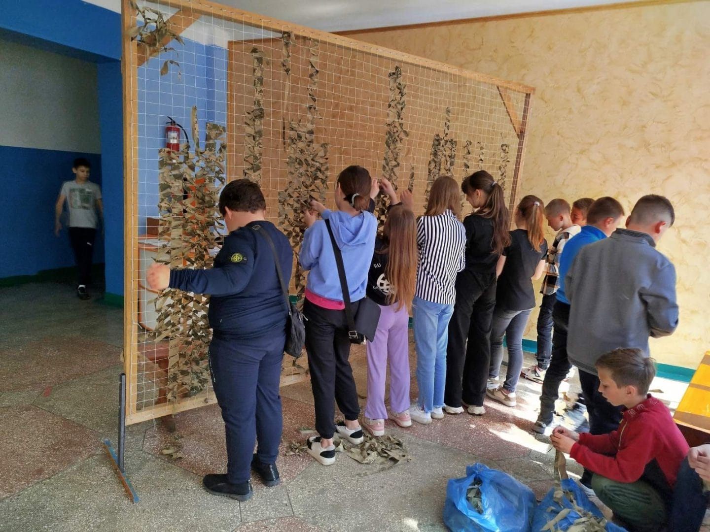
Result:
{"label": "long straight light brown hair of girl in lilac trousers", "polygon": [[385,277],[390,282],[388,304],[402,305],[410,311],[417,282],[417,228],[414,213],[405,206],[393,206],[385,221],[382,231],[386,248],[381,253],[388,253]]}

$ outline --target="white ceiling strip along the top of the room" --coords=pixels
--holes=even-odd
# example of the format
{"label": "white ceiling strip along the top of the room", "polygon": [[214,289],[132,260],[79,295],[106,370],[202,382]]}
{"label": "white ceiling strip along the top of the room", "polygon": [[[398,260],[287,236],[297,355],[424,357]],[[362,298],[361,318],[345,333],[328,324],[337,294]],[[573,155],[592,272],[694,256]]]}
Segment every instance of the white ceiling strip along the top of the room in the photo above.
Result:
{"label": "white ceiling strip along the top of the room", "polygon": [[[121,0],[87,0],[121,11]],[[641,0],[633,0],[641,1]],[[323,31],[407,26],[461,18],[572,9],[613,0],[221,0],[217,4],[279,18]]]}

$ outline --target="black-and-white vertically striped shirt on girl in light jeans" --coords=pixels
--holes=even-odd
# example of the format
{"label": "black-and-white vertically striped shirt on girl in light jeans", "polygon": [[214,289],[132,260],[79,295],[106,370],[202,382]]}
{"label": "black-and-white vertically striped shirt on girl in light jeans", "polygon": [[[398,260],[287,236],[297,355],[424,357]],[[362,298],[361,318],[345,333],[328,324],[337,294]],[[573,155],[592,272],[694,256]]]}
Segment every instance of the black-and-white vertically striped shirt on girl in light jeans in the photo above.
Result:
{"label": "black-and-white vertically striped shirt on girl in light jeans", "polygon": [[417,218],[417,289],[425,301],[454,304],[456,275],[464,269],[466,229],[452,211]]}

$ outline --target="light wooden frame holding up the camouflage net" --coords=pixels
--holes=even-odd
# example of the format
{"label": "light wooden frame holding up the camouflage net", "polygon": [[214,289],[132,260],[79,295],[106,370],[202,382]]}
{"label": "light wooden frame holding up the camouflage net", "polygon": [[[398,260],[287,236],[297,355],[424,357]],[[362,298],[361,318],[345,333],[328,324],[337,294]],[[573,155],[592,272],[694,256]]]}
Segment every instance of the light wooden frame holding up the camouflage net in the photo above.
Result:
{"label": "light wooden frame holding up the camouflage net", "polygon": [[[530,96],[535,92],[535,89],[525,84],[510,82],[504,79],[471,72],[452,65],[446,65],[441,62],[426,60],[415,55],[410,55],[397,50],[390,50],[378,46],[362,43],[360,41],[344,37],[342,35],[334,35],[322,31],[313,30],[304,26],[278,21],[274,18],[261,16],[255,13],[241,11],[239,9],[231,9],[221,4],[214,4],[206,0],[164,0],[160,1],[163,6],[170,6],[178,11],[169,18],[173,22],[173,30],[184,31],[190,24],[197,21],[201,16],[212,16],[222,21],[233,23],[244,23],[246,25],[263,28],[267,31],[283,33],[285,31],[293,32],[295,35],[300,35],[306,38],[312,38],[320,41],[320,43],[330,43],[338,47],[344,47],[349,50],[357,50],[366,54],[385,57],[398,62],[426,67],[427,69],[435,70],[453,76],[471,79],[476,82],[490,84],[498,89],[498,94],[503,101],[503,105],[510,118],[510,124],[515,132],[518,140],[518,146],[515,155],[515,167],[513,177],[510,182],[510,198],[511,209],[514,207],[515,192],[518,187],[518,180],[523,169],[523,153],[525,145],[525,133],[528,125],[528,113],[530,109]],[[175,17],[173,19],[173,17]],[[136,205],[137,205],[137,190],[136,190],[136,175],[134,168],[135,162],[138,160],[138,67],[143,65],[150,59],[145,52],[139,50],[136,42],[131,42],[129,31],[136,24],[136,17],[133,13],[129,0],[122,0],[122,29],[123,29],[123,60],[122,73],[124,79],[124,367],[126,372],[126,423],[138,423],[147,419],[153,419],[160,416],[175,414],[179,411],[185,411],[197,406],[205,404],[213,404],[215,402],[214,395],[211,392],[202,392],[194,397],[180,399],[175,403],[165,403],[153,405],[150,408],[143,410],[137,409],[138,400],[138,324],[137,324],[137,282],[136,272],[139,271],[140,265],[138,256],[138,234],[136,231]],[[166,43],[163,43],[166,44]],[[231,54],[231,50],[227,48],[227,53]],[[230,62],[231,64],[231,62]],[[234,91],[234,83],[228,74],[227,76],[227,92]],[[511,93],[524,94],[524,106],[522,113],[515,110]],[[496,96],[497,97],[497,96]],[[520,104],[518,104],[520,105]],[[502,111],[500,111],[502,112]],[[234,117],[234,108],[229,106],[227,102],[226,113],[228,117]],[[504,115],[503,115],[504,116]],[[236,120],[228,118],[228,120]],[[238,135],[234,131],[227,129],[228,145],[234,146],[239,141]],[[229,168],[234,168],[234,157],[227,157],[227,165]],[[228,179],[234,177],[234,172],[227,174]],[[134,308],[135,307],[135,308]],[[304,375],[285,375],[282,378],[282,385],[292,384],[298,380],[305,378]]]}

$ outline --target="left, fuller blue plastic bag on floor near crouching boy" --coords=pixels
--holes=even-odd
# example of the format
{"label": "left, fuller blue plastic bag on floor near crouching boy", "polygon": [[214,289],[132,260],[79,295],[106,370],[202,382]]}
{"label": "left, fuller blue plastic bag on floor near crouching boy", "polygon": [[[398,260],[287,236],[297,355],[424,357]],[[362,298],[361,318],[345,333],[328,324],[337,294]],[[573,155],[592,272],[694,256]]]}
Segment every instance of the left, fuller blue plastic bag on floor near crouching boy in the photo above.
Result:
{"label": "left, fuller blue plastic bag on floor near crouching boy", "polygon": [[[483,513],[466,499],[471,483],[481,482]],[[483,464],[466,467],[466,477],[451,479],[446,487],[444,524],[452,532],[528,532],[535,511],[535,495],[510,475]]]}

